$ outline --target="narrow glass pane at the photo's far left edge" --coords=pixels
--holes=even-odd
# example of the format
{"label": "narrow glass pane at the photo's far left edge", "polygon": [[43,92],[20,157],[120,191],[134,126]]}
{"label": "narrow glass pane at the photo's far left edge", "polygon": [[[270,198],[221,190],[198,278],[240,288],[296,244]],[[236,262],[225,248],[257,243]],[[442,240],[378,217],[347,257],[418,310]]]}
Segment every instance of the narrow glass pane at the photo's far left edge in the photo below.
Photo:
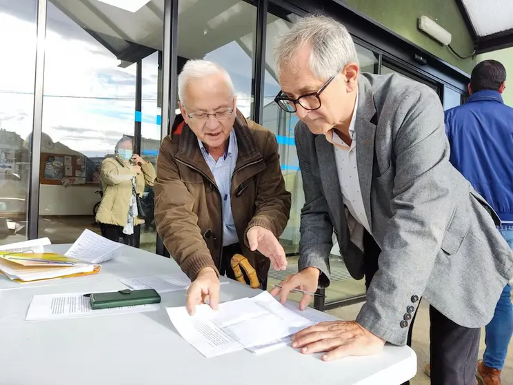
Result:
{"label": "narrow glass pane at the photo's far left edge", "polygon": [[0,3],[0,244],[27,239],[36,3]]}

